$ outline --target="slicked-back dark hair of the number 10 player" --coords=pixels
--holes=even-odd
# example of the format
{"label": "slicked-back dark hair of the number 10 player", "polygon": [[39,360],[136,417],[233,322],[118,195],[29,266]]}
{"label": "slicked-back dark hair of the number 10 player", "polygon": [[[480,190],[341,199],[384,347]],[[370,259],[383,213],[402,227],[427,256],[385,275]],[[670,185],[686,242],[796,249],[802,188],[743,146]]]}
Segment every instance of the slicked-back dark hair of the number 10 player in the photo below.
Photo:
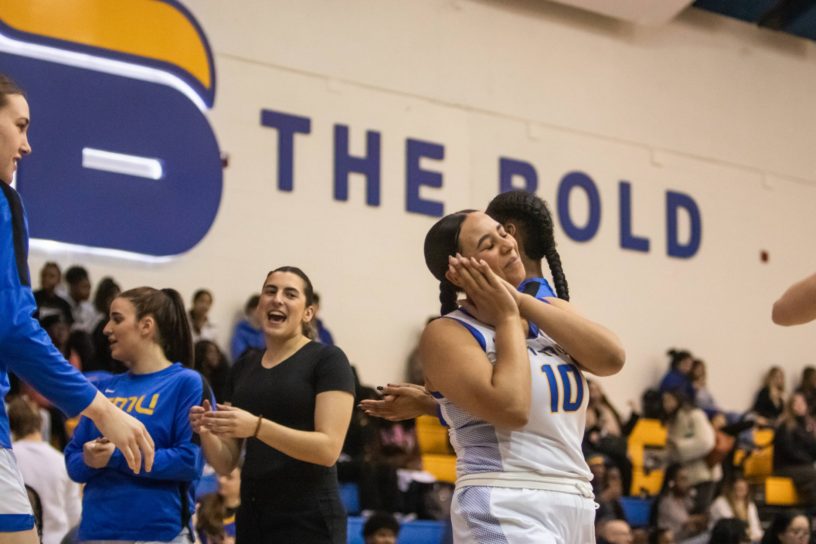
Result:
{"label": "slicked-back dark hair of the number 10 player", "polygon": [[462,210],[446,215],[425,235],[425,265],[431,274],[439,280],[439,302],[441,315],[456,309],[456,286],[453,285],[445,272],[448,270],[448,257],[459,251],[459,231],[465,218],[476,210]]}

